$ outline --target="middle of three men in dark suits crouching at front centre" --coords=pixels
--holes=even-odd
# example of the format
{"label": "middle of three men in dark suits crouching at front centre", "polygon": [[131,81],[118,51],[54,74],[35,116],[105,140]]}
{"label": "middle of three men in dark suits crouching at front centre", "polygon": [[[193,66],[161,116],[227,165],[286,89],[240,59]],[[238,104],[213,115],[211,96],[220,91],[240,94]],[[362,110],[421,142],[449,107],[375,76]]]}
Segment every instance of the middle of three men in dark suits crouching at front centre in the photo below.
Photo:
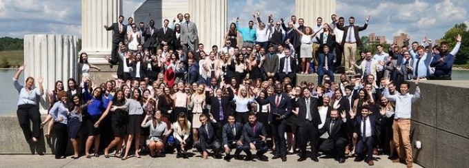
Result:
{"label": "middle of three men in dark suits crouching at front centre", "polygon": [[223,148],[225,149],[225,160],[230,160],[231,149],[234,151],[234,158],[241,160],[239,154],[243,151],[243,125],[235,121],[233,114],[228,114],[228,123],[223,125]]}

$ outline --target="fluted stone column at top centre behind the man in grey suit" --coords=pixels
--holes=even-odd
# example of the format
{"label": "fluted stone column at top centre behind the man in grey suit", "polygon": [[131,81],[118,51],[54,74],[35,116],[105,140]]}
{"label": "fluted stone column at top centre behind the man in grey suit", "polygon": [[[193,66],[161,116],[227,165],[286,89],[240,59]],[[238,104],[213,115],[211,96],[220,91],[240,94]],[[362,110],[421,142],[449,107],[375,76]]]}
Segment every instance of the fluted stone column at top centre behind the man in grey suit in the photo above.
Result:
{"label": "fluted stone column at top centre behind the man in grey suit", "polygon": [[190,0],[189,14],[190,20],[197,24],[199,43],[206,48],[212,45],[221,48],[228,26],[228,0]]}

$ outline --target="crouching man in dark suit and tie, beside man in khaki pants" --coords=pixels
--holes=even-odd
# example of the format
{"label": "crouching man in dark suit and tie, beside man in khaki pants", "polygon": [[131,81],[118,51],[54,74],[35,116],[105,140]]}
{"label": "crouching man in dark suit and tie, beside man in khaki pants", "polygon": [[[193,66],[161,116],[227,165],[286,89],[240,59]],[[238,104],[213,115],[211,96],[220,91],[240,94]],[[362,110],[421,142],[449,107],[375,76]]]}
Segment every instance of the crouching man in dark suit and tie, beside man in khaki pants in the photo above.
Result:
{"label": "crouching man in dark suit and tie, beside man in khaki pants", "polygon": [[[383,110],[383,112],[386,111]],[[386,122],[386,120],[383,120],[383,116],[384,114],[372,114],[371,108],[368,105],[361,107],[361,116],[357,116],[357,118],[355,118],[355,112],[350,112],[350,125],[352,125],[354,132],[358,134],[355,162],[363,161],[365,157],[363,149],[366,145],[368,156],[365,161],[370,166],[375,165],[373,162],[373,148],[375,147],[375,138],[378,138],[379,134],[381,134],[377,126],[383,125],[383,122]]]}

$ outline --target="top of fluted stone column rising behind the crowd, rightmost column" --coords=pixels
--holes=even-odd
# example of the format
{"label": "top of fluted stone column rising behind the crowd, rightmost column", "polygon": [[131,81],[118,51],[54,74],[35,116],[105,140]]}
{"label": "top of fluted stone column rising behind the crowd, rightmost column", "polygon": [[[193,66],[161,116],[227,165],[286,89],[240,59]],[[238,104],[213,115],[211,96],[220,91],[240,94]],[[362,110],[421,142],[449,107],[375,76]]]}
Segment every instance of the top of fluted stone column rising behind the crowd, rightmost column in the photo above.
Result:
{"label": "top of fluted stone column rising behind the crowd, rightmost column", "polygon": [[[297,21],[305,20],[305,25],[315,26],[317,17],[323,18],[323,23],[330,23],[330,15],[335,14],[335,3],[337,0],[295,0]],[[290,19],[287,19],[290,21]]]}

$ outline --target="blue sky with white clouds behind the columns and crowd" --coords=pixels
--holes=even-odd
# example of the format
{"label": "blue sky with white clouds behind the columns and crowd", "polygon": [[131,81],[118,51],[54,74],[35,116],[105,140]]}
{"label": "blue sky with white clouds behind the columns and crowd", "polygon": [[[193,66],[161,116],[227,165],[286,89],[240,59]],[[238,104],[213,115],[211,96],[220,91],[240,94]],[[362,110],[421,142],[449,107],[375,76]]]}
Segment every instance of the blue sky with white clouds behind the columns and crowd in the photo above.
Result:
{"label": "blue sky with white clouds behind the columns and crowd", "polygon": [[[128,17],[144,0],[124,0],[123,14]],[[180,1],[180,0],[178,0]],[[241,26],[261,10],[263,17],[274,13],[275,20],[295,12],[295,0],[229,0],[228,23],[240,17]],[[428,36],[440,39],[457,23],[469,23],[467,0],[337,0],[337,14],[354,16],[358,23],[371,15],[368,29],[361,36],[375,32],[392,36],[405,32],[412,40]],[[328,17],[328,16],[323,16]],[[73,34],[81,36],[81,1],[79,0],[0,0],[0,36],[22,38],[24,34]],[[314,25],[315,23],[305,23]]]}

